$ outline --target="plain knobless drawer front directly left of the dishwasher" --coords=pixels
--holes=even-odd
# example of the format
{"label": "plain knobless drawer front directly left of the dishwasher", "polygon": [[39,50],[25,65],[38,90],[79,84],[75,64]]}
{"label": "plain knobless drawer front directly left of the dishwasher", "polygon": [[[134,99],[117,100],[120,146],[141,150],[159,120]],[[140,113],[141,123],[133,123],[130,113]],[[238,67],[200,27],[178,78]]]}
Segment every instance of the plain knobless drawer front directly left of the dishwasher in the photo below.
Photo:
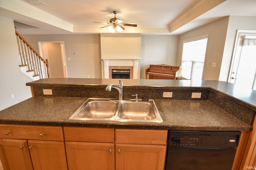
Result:
{"label": "plain knobless drawer front directly left of the dishwasher", "polygon": [[166,145],[167,130],[116,129],[116,143]]}

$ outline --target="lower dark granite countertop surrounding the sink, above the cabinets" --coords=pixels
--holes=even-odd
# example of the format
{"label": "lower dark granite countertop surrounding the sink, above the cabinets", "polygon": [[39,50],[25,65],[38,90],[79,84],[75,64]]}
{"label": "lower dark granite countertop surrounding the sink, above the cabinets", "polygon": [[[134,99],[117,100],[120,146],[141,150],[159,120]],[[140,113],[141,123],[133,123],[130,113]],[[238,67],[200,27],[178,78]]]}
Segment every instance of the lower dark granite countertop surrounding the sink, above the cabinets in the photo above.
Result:
{"label": "lower dark granite countertop surrounding the sink, above the cabinets", "polygon": [[0,111],[0,123],[196,131],[248,131],[242,122],[208,100],[154,100],[162,123],[79,121],[68,118],[87,98],[33,97]]}

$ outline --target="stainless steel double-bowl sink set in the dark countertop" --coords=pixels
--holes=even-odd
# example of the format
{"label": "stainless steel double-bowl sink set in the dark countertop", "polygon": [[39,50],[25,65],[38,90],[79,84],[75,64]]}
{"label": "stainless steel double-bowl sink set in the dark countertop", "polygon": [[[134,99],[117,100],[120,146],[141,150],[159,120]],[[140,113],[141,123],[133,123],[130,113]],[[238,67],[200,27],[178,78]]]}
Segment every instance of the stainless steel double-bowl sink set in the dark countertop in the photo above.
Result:
{"label": "stainless steel double-bowl sink set in the dark countertop", "polygon": [[154,100],[118,100],[89,98],[73,113],[70,120],[162,122]]}

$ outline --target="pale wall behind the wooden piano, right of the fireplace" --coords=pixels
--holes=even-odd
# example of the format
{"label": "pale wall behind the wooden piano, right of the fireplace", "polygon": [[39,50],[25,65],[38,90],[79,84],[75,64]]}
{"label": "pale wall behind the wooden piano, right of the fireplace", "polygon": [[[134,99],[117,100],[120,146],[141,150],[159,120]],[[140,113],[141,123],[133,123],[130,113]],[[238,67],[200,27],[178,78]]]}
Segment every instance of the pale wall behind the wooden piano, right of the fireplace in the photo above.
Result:
{"label": "pale wall behind the wooden piano, right of the fireplace", "polygon": [[178,35],[142,35],[140,78],[145,79],[145,70],[150,64],[177,65]]}

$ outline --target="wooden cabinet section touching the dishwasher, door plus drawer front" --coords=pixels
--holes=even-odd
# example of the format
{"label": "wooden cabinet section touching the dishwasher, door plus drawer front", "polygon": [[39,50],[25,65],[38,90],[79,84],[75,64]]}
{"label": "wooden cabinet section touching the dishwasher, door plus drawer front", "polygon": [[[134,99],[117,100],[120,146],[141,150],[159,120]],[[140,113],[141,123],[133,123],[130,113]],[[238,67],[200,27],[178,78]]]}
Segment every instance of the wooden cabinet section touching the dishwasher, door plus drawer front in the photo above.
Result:
{"label": "wooden cabinet section touching the dishwasher, door plus drawer front", "polygon": [[167,131],[116,129],[116,170],[164,170]]}

